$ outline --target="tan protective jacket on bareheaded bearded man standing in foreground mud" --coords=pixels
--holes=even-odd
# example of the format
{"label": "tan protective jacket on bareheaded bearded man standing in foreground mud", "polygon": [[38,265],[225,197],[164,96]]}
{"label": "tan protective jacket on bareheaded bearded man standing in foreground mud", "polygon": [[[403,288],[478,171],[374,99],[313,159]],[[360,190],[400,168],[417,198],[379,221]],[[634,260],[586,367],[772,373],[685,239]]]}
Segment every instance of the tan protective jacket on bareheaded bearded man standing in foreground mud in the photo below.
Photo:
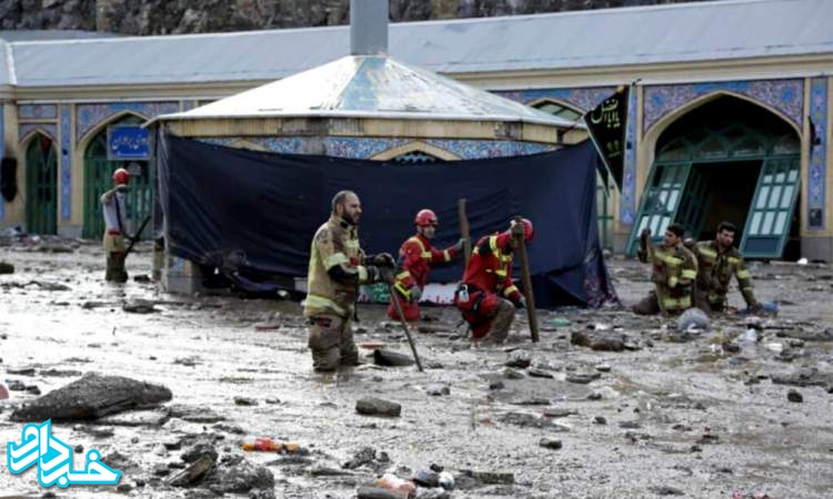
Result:
{"label": "tan protective jacket on bareheaded bearded man standing in foreground mud", "polygon": [[[328,271],[337,265],[341,266],[349,278],[340,282],[330,276]],[[343,318],[351,317],[359,284],[369,282],[364,252],[359,246],[358,228],[340,216],[331,215],[312,238],[303,315],[311,317],[335,314]]]}

